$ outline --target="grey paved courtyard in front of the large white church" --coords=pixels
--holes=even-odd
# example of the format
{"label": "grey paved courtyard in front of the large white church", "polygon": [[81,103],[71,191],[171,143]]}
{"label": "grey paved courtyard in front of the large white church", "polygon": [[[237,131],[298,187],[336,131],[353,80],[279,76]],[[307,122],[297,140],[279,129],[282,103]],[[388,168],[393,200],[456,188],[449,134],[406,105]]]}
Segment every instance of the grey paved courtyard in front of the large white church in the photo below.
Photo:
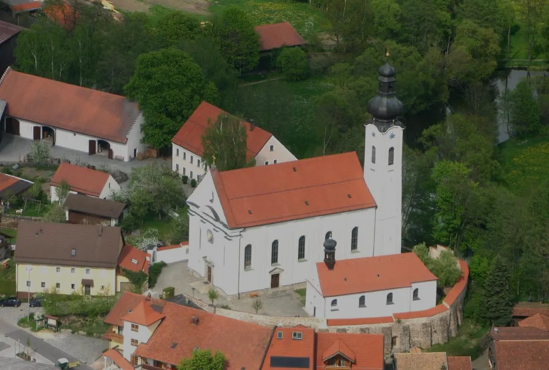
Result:
{"label": "grey paved courtyard in front of the large white church", "polygon": [[[187,272],[187,261],[176,262],[165,266],[162,273],[158,277],[153,290],[162,292],[162,289],[166,287],[174,287],[175,294],[187,294],[193,296],[200,301],[211,303],[208,299],[208,293],[200,293],[198,289],[194,289],[191,286],[192,283],[201,284],[203,279],[195,278],[191,273]],[[197,284],[193,284],[197,285]],[[258,313],[269,316],[288,316],[295,317],[299,315],[301,317],[307,317],[307,313],[303,310],[300,302],[300,295],[295,293],[291,289],[287,289],[287,294],[282,296],[271,297],[266,291],[259,291],[259,298],[263,302],[263,308]],[[233,299],[227,301],[224,298],[215,300],[215,305],[221,307],[228,305],[232,310],[253,312],[255,309],[251,306],[255,301],[255,298],[250,298],[249,295],[240,295],[240,299]]]}

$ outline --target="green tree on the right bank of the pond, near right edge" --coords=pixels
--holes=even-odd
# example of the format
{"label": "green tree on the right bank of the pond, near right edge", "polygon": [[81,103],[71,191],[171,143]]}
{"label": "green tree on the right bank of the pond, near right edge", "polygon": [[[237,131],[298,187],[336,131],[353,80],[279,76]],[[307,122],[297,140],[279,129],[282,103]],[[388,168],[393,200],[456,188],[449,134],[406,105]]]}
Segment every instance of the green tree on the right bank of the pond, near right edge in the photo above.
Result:
{"label": "green tree on the right bank of the pond, near right edge", "polygon": [[533,86],[527,79],[520,81],[511,92],[511,126],[514,136],[524,138],[541,128],[540,108],[532,95]]}

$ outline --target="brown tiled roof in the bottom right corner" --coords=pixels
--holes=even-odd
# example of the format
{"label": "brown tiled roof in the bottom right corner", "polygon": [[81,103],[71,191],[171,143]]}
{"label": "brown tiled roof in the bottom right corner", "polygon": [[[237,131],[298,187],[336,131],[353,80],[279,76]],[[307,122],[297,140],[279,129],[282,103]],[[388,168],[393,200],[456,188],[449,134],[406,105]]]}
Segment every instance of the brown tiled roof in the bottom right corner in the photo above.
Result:
{"label": "brown tiled roof in the bottom right corner", "polygon": [[494,347],[497,370],[549,368],[549,340],[497,340]]}

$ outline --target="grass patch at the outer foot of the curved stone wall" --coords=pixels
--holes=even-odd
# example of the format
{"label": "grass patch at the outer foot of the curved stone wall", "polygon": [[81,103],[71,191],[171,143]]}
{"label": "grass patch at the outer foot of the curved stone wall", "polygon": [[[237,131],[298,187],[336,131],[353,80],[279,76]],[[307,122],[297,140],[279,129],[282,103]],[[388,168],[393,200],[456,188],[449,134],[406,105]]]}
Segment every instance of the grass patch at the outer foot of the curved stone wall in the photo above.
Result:
{"label": "grass patch at the outer foot of the curved stone wall", "polygon": [[474,360],[483,352],[480,340],[488,333],[488,329],[466,320],[458,330],[455,338],[450,339],[445,344],[435,344],[425,349],[425,352],[446,352],[448,356],[471,356]]}

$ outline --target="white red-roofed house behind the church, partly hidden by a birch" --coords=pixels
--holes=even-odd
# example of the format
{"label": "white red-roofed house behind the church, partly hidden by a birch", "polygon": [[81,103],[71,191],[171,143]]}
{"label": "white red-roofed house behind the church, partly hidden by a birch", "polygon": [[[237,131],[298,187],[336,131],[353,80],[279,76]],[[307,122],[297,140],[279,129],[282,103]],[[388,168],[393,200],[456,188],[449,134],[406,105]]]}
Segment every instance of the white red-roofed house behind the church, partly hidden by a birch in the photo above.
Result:
{"label": "white red-roofed house behind the church, partly hidden by a birch", "polygon": [[[200,181],[206,173],[202,156],[202,136],[210,121],[216,121],[219,115],[227,115],[225,111],[202,102],[189,117],[187,122],[172,138],[172,170],[180,175],[186,175]],[[246,160],[255,159],[256,166],[295,161],[295,156],[272,136],[254,124],[244,122],[246,126],[247,152]]]}

